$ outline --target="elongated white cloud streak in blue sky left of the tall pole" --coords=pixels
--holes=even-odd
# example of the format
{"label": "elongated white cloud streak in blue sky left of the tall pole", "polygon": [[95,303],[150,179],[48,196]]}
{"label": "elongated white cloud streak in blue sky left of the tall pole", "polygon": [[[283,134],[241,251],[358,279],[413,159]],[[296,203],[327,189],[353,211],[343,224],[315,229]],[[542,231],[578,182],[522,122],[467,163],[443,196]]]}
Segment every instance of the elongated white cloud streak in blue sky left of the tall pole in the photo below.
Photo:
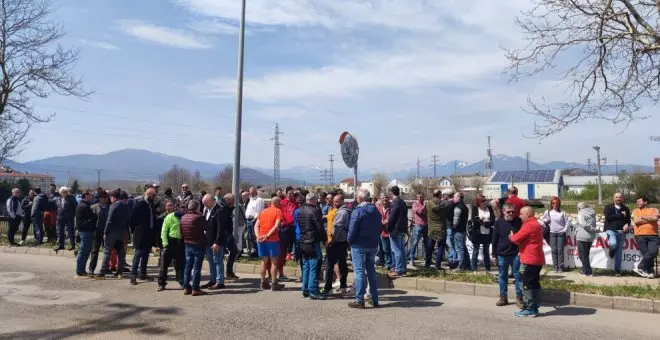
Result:
{"label": "elongated white cloud streak in blue sky left of the tall pole", "polygon": [[122,20],[119,28],[127,35],[157,44],[183,49],[205,49],[211,45],[187,31],[156,26],[139,20]]}

